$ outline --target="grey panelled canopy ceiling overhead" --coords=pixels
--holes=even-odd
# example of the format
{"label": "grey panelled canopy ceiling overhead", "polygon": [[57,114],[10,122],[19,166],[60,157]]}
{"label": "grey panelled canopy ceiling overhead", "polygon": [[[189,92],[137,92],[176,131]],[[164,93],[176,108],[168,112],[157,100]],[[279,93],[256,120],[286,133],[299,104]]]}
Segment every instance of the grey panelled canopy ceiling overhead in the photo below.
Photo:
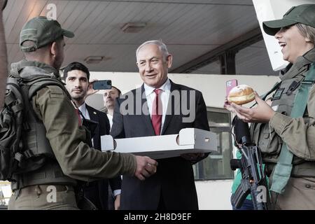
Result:
{"label": "grey panelled canopy ceiling overhead", "polygon": [[[57,6],[57,20],[76,36],[66,39],[64,65],[103,56],[91,71],[137,71],[135,50],[144,41],[162,39],[174,55],[173,68],[211,52],[258,27],[251,0],[125,0],[47,1],[8,0],[3,12],[8,61],[22,59],[19,34],[27,20],[46,15],[47,6]],[[144,22],[138,33],[120,28],[127,22]],[[272,71],[263,41],[237,53],[237,73],[276,74]],[[193,73],[220,73],[214,62]]]}

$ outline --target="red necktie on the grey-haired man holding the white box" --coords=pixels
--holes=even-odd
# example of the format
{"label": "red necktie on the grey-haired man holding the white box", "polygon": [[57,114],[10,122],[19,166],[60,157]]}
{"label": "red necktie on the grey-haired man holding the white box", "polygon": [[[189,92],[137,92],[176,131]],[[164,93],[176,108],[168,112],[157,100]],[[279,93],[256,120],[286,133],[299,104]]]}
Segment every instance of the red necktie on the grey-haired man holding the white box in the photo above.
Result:
{"label": "red necktie on the grey-haired man holding the white box", "polygon": [[162,102],[159,94],[162,90],[155,89],[155,99],[152,105],[152,125],[155,135],[160,135],[162,124]]}

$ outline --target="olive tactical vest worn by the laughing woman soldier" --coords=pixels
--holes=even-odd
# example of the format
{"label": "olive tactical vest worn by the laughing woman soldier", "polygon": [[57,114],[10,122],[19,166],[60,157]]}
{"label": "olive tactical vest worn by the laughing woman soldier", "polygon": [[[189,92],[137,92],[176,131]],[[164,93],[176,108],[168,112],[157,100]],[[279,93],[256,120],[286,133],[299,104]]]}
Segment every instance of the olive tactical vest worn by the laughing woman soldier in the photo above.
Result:
{"label": "olive tactical vest worn by the laughing woman soldier", "polygon": [[[294,78],[283,80],[281,85],[276,89],[272,96],[272,109],[290,116],[293,108],[295,95],[304,80],[303,73],[298,74]],[[307,110],[303,116],[305,122],[308,119]],[[251,124],[251,137],[254,143],[259,146],[262,152],[262,160],[266,164],[267,175],[270,176],[276,162],[278,162],[279,154],[283,141],[281,137],[276,134],[269,123],[253,123]],[[293,170],[291,176],[301,177],[315,177],[315,162],[308,162],[297,156],[293,156]]]}

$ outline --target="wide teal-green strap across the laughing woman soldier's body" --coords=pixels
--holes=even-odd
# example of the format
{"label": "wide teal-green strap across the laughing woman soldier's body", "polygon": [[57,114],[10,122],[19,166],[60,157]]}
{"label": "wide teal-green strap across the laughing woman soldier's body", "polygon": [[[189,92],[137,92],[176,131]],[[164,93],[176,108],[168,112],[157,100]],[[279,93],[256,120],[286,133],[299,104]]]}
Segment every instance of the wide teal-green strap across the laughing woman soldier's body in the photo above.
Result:
{"label": "wide teal-green strap across the laughing woman soldier's body", "polygon": [[[307,76],[302,81],[300,88],[295,96],[293,109],[291,111],[291,118],[299,118],[304,115],[307,108],[307,99],[309,98],[309,90],[314,84],[315,80],[315,63],[311,64]],[[282,194],[284,193],[288,179],[293,168],[293,153],[288,151],[288,146],[283,142],[279,160],[276,163],[274,174],[272,176],[272,186],[270,190]]]}

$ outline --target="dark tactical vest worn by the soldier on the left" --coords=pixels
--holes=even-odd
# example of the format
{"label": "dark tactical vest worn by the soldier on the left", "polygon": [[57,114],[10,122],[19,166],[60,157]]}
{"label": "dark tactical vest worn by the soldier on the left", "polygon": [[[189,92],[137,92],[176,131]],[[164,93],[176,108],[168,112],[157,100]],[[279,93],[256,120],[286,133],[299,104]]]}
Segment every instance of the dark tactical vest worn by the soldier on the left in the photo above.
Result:
{"label": "dark tactical vest worn by the soldier on the left", "polygon": [[[58,85],[66,94],[68,92],[61,81],[53,78],[53,75],[47,74],[43,69],[36,66],[27,66],[27,72],[22,71],[20,73],[21,71],[16,69],[10,76],[23,78],[30,85],[28,95],[23,96],[25,99],[26,122],[22,133],[25,151],[21,154],[21,157],[25,157],[26,160],[23,160],[25,162],[22,163],[20,172],[13,174],[11,188],[17,190],[26,186],[50,183],[75,186],[76,180],[63,174],[50,143],[45,137],[45,126],[36,116],[31,104],[36,92],[47,85]],[[43,81],[34,80],[34,83],[32,83],[32,78],[39,76],[43,77]],[[51,78],[51,81],[47,81],[47,78]]]}

